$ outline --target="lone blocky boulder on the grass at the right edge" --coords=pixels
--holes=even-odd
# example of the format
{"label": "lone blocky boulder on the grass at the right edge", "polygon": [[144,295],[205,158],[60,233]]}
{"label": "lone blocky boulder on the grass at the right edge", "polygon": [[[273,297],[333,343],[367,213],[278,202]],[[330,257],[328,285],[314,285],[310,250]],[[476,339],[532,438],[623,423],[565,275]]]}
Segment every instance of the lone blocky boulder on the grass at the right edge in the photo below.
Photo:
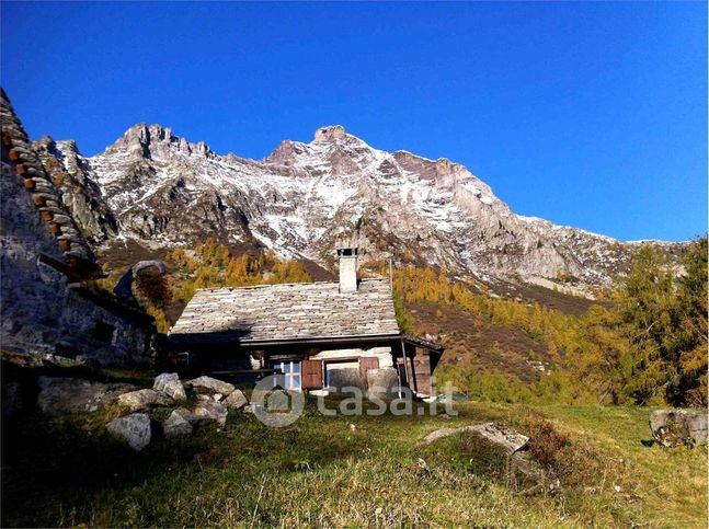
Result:
{"label": "lone blocky boulder on the grass at the right edge", "polygon": [[666,447],[700,445],[707,441],[707,411],[656,410],[650,414],[650,429],[655,440]]}

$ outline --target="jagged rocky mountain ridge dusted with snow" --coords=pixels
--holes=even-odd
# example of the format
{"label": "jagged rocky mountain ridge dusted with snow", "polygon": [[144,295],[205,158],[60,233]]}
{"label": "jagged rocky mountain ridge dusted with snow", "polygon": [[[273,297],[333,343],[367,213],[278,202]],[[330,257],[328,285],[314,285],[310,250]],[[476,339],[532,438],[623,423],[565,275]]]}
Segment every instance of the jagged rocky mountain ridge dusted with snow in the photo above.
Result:
{"label": "jagged rocky mountain ridge dusted with snow", "polygon": [[465,166],[381,151],[341,126],[318,129],[309,143],[283,141],[261,161],[142,124],[91,158],[72,142],[35,147],[45,164],[55,158],[73,181],[100,189],[88,209],[94,218],[83,211],[78,221],[107,246],[217,237],[328,265],[336,243],[353,243],[369,258],[582,286],[608,284],[637,248],[515,215]]}

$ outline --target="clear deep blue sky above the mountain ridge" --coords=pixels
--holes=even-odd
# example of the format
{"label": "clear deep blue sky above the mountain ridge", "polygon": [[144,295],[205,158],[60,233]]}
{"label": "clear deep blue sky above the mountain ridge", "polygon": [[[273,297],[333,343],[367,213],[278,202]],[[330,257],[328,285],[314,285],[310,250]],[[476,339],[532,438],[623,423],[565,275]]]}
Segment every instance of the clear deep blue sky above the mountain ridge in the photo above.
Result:
{"label": "clear deep blue sky above the mountain ridge", "polygon": [[704,2],[1,10],[27,133],[84,154],[138,122],[256,159],[342,124],[467,165],[523,215],[624,240],[707,229]]}

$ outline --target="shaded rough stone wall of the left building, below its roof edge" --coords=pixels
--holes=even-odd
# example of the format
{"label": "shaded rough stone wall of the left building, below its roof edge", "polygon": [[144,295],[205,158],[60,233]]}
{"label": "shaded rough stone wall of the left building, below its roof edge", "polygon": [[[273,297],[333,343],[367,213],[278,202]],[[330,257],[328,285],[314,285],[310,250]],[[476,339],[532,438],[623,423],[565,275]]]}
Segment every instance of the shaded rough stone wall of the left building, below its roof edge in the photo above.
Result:
{"label": "shaded rough stone wall of the left building, below its roof edge", "polygon": [[[68,289],[62,274],[39,262],[41,254],[61,260],[61,251],[5,163],[0,196],[0,348],[114,365],[146,361],[148,326]],[[94,337],[98,322],[115,329],[111,343]]]}

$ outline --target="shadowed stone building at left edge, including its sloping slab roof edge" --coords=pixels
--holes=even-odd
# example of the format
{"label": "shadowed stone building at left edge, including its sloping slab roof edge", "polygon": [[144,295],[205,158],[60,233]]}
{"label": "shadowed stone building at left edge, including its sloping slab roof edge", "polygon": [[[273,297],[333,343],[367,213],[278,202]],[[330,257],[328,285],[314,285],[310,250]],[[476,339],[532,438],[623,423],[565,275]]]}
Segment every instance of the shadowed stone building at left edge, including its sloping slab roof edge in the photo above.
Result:
{"label": "shadowed stone building at left edge, including its sloping slab roof edge", "polygon": [[0,350],[115,365],[146,361],[155,330],[145,314],[96,304],[39,261],[46,255],[68,267],[98,268],[4,91],[0,100]]}

